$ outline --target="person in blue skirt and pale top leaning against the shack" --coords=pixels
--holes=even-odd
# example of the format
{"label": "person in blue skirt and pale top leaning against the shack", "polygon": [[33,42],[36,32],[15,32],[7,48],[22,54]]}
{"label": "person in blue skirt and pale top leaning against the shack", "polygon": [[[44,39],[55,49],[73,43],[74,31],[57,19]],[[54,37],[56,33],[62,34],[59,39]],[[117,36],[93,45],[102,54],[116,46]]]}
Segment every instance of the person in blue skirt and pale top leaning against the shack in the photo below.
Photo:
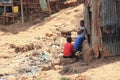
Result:
{"label": "person in blue skirt and pale top leaning against the shack", "polygon": [[82,46],[82,42],[85,39],[85,27],[84,27],[84,21],[80,21],[80,29],[77,31],[77,38],[74,43],[74,50],[75,52],[79,51],[80,47]]}

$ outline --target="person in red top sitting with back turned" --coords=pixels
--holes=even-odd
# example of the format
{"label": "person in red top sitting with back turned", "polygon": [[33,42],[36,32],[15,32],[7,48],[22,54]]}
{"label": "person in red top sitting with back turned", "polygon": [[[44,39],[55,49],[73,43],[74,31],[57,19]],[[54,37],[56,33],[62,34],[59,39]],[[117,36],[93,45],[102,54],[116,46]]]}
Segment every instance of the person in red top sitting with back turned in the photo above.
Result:
{"label": "person in red top sitting with back turned", "polygon": [[78,57],[75,55],[74,52],[74,46],[73,44],[71,44],[72,42],[72,38],[71,37],[67,37],[67,43],[64,44],[64,58],[74,58],[76,57],[76,60],[78,60]]}

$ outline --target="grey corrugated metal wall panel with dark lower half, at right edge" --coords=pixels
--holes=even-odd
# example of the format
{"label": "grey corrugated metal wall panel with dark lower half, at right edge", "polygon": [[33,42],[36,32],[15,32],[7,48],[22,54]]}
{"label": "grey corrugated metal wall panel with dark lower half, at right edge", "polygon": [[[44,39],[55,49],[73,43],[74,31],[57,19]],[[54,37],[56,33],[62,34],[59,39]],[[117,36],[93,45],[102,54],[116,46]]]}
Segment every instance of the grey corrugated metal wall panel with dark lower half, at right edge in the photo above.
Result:
{"label": "grey corrugated metal wall panel with dark lower half, at right edge", "polygon": [[103,0],[103,45],[111,56],[120,55],[120,2]]}

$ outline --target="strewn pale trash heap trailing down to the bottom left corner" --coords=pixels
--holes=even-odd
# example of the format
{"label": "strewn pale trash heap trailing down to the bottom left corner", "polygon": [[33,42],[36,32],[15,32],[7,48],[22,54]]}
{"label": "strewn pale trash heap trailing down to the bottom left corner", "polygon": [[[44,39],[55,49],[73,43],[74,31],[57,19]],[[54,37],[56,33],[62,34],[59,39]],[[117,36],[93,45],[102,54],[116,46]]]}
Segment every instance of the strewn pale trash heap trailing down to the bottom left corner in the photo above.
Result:
{"label": "strewn pale trash heap trailing down to the bottom left corner", "polygon": [[15,77],[17,75],[33,76],[34,74],[40,72],[42,68],[44,68],[44,65],[49,64],[51,60],[51,56],[48,52],[34,50],[31,55],[26,55],[22,61],[19,61],[19,63],[17,63],[18,61],[16,60],[17,65],[13,67],[15,69],[15,73],[3,74],[0,76],[0,80],[7,80],[9,76]]}

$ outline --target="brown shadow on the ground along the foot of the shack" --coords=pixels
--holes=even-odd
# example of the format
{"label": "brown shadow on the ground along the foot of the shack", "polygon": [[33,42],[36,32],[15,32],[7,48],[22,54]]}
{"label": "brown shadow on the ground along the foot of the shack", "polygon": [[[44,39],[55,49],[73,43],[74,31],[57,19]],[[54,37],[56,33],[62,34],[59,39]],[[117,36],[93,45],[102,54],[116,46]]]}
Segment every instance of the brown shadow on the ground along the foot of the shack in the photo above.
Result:
{"label": "brown shadow on the ground along the foot of the shack", "polygon": [[104,65],[109,65],[112,63],[115,63],[117,61],[120,61],[120,56],[117,57],[109,57],[105,59],[95,59],[89,64],[86,64],[83,62],[83,60],[80,60],[75,63],[71,64],[65,64],[64,67],[60,70],[60,74],[63,75],[71,75],[71,74],[81,74],[86,72],[89,69],[99,68]]}

